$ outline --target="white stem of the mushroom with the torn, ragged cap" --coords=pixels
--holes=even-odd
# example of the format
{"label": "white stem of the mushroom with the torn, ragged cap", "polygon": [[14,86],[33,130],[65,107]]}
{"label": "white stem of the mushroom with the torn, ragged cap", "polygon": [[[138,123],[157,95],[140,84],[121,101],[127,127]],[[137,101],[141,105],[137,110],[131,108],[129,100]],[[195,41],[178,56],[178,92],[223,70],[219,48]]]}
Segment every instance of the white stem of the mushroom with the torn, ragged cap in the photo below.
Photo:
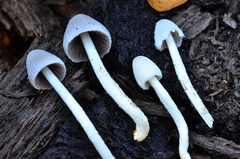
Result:
{"label": "white stem of the mushroom with the torn, ragged cap", "polygon": [[172,37],[172,34],[170,33],[168,35],[168,38],[166,39],[168,49],[173,61],[173,65],[176,71],[176,74],[178,76],[178,79],[185,90],[188,98],[192,102],[193,106],[196,108],[200,116],[203,118],[203,120],[207,123],[207,125],[212,128],[213,125],[213,118],[211,114],[208,112],[207,108],[203,104],[202,100],[198,96],[197,92],[193,88],[192,83],[190,82],[190,79],[187,75],[186,69],[184,67],[184,64],[182,62],[182,59],[180,57],[180,54],[178,52],[176,43]]}

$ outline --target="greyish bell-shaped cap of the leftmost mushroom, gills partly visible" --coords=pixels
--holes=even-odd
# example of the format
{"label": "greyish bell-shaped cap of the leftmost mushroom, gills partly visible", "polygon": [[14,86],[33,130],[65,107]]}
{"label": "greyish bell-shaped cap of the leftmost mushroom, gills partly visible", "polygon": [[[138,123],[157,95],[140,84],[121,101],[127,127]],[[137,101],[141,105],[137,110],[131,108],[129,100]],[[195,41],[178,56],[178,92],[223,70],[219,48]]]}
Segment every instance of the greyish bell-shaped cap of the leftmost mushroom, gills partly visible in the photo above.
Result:
{"label": "greyish bell-shaped cap of the leftmost mushroom, gills partly visible", "polygon": [[31,51],[27,56],[26,65],[28,79],[36,89],[52,88],[51,84],[41,73],[44,67],[48,67],[60,81],[62,81],[66,75],[66,67],[63,61],[44,50]]}

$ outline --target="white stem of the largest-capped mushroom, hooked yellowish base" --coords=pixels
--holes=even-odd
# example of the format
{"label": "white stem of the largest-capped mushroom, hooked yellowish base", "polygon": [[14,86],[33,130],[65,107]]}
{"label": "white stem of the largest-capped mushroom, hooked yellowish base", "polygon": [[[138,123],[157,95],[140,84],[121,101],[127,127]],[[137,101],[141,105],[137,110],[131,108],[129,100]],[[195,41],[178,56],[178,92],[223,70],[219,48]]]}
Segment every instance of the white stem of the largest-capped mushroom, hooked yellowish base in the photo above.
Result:
{"label": "white stem of the largest-capped mushroom, hooked yellowish base", "polygon": [[80,37],[87,52],[89,61],[92,64],[93,70],[103,88],[114,99],[119,107],[122,108],[136,123],[134,140],[139,142],[144,140],[149,132],[149,123],[147,117],[132,102],[132,100],[126,96],[118,84],[111,78],[100,59],[89,33],[80,34]]}

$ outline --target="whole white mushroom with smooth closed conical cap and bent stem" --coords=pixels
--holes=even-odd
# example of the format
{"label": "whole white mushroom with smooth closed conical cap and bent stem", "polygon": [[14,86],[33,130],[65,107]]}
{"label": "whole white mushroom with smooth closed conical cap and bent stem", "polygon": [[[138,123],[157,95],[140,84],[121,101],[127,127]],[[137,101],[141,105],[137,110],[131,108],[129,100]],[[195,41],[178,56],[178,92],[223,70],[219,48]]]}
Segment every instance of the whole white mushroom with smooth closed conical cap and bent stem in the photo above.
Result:
{"label": "whole white mushroom with smooth closed conical cap and bent stem", "polygon": [[188,127],[168,92],[161,85],[159,80],[162,78],[162,72],[150,59],[144,56],[137,56],[132,62],[133,74],[138,85],[147,90],[150,86],[157,93],[160,101],[163,103],[169,114],[172,116],[179,132],[179,154],[181,159],[189,159],[188,149]]}

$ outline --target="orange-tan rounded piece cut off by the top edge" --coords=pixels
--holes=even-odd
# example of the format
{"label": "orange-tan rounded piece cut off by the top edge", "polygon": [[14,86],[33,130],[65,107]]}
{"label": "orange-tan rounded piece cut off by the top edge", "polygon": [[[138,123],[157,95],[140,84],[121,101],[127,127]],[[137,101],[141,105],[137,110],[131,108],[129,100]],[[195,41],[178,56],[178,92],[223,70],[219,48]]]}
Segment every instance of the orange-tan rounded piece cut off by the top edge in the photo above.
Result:
{"label": "orange-tan rounded piece cut off by the top edge", "polygon": [[187,0],[148,0],[150,6],[158,12],[169,11],[185,2]]}

